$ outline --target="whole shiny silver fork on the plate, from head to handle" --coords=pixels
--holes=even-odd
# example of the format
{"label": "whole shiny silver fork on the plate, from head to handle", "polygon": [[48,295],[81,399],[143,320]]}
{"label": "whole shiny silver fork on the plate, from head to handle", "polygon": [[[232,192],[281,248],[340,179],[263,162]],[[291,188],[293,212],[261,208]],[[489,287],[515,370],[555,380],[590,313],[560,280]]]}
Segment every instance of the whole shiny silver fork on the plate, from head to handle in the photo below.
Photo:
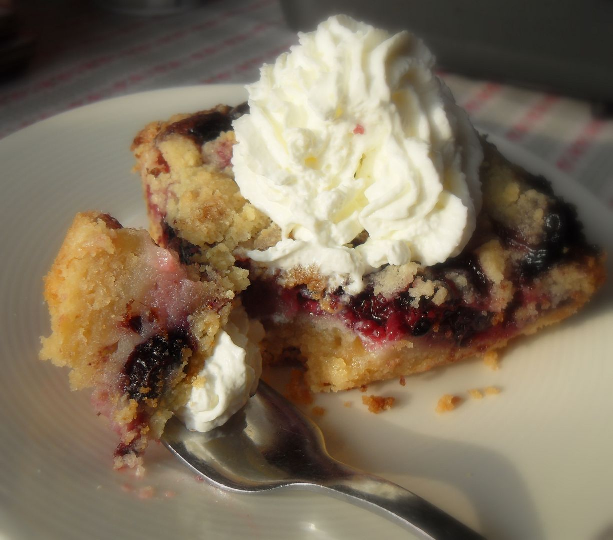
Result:
{"label": "whole shiny silver fork on the plate, from head to handle", "polygon": [[332,459],[321,430],[260,381],[256,394],[225,426],[190,432],[172,418],[162,442],[189,468],[233,492],[282,487],[321,490],[344,498],[428,540],[484,538],[421,497]]}

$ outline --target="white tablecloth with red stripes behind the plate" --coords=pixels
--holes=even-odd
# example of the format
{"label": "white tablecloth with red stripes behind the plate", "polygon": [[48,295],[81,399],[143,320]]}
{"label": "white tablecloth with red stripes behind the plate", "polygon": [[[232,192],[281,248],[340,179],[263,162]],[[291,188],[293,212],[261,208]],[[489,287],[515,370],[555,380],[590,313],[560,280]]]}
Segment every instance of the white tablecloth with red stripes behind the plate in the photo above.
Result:
{"label": "white tablecloth with red stripes behind the plate", "polygon": [[[121,15],[76,0],[18,7],[20,30],[34,37],[35,48],[28,69],[0,83],[0,137],[111,97],[254,81],[261,64],[297,42],[276,0],[209,0],[164,17]],[[596,118],[581,100],[441,77],[481,131],[552,163],[613,211],[613,120]],[[158,119],[155,111],[151,119]]]}

